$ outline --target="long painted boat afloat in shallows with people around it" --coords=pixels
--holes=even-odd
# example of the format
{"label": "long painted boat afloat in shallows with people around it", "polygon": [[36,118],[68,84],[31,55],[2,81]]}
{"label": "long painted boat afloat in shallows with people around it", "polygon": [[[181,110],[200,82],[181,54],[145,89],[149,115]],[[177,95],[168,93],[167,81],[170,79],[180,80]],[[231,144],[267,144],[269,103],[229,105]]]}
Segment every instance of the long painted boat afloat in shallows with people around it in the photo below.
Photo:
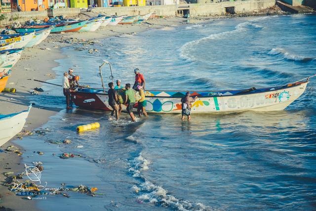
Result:
{"label": "long painted boat afloat in shallows with people around it", "polygon": [[[197,96],[196,101],[192,104],[191,112],[198,114],[283,110],[305,91],[309,78],[302,81],[258,89],[191,91],[192,96]],[[181,113],[181,98],[185,96],[186,92],[187,90],[146,90],[146,111]],[[108,103],[108,94],[103,89],[82,88],[73,92],[72,95],[75,104],[81,108],[112,110]]]}

